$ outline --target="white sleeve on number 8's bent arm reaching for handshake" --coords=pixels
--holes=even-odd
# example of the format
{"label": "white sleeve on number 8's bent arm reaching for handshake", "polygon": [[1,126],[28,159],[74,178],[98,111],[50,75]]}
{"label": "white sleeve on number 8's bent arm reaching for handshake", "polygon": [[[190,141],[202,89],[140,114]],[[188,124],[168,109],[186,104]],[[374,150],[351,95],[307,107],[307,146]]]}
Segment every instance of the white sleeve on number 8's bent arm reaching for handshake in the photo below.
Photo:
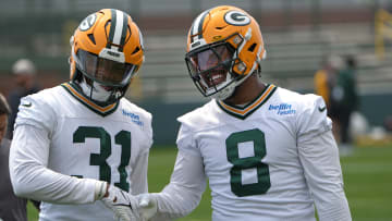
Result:
{"label": "white sleeve on number 8's bent arm reaching for handshake", "polygon": [[158,201],[158,218],[176,219],[193,211],[206,189],[203,158],[197,150],[192,130],[182,124],[177,136],[177,157],[170,183],[159,194],[152,194]]}

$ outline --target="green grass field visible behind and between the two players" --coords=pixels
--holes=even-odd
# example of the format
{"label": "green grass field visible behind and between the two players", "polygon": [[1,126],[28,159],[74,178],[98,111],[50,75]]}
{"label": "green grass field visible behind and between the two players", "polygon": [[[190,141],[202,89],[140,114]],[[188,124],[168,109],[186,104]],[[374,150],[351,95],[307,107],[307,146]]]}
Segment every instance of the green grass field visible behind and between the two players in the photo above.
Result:
{"label": "green grass field visible behind and between the two players", "polygon": [[[168,184],[175,160],[175,148],[154,147],[149,158],[150,192],[160,192]],[[345,192],[354,221],[392,221],[392,146],[360,147],[351,157],[342,158]],[[200,205],[181,221],[210,220],[210,192]],[[37,211],[28,205],[28,220],[37,220]]]}

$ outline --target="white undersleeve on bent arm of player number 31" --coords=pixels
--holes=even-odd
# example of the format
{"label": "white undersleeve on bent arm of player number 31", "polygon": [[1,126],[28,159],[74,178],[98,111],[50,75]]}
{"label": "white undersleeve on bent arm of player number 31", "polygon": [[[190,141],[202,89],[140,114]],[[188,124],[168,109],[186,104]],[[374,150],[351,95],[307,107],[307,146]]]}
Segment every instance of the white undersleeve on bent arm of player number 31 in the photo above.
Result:
{"label": "white undersleeve on bent arm of player number 31", "polygon": [[54,204],[88,204],[95,199],[98,181],[77,179],[47,168],[48,131],[19,124],[10,150],[10,176],[20,197]]}

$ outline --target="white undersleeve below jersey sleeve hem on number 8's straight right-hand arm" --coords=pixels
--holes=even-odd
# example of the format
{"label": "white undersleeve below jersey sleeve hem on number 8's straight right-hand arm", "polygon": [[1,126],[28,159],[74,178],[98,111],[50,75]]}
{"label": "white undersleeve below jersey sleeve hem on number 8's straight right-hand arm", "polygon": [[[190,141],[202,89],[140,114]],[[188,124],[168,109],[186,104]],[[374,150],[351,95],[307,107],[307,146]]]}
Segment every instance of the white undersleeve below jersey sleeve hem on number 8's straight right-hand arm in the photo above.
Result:
{"label": "white undersleeve below jersey sleeve hem on number 8's straight right-hand arm", "polygon": [[327,131],[302,142],[299,155],[320,221],[351,221],[332,132]]}

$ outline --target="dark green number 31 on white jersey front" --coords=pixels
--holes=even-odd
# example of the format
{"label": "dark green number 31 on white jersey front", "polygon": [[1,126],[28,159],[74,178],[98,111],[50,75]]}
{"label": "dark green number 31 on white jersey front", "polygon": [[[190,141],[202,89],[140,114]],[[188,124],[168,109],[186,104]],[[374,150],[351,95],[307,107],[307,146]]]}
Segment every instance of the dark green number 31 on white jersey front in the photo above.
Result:
{"label": "dark green number 31 on white jersey front", "polygon": [[[90,155],[90,165],[99,167],[99,180],[111,183],[111,169],[107,159],[111,155],[111,136],[102,127],[79,126],[73,134],[73,143],[85,143],[86,138],[98,138],[100,140],[100,154]],[[131,132],[121,131],[114,136],[114,142],[121,145],[121,162],[118,168],[120,182],[114,185],[125,192],[130,191],[130,183],[126,181],[127,174],[125,167],[131,159]]]}

